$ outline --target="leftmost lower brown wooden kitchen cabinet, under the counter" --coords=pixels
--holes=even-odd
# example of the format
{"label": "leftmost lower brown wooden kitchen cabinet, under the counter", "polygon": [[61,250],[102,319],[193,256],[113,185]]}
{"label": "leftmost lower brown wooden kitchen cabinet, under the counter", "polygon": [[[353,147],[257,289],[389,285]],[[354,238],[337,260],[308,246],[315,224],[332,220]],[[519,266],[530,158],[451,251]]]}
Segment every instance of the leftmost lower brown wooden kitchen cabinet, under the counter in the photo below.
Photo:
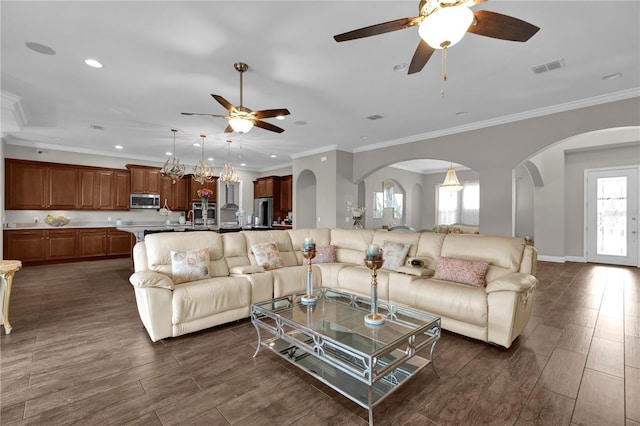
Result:
{"label": "leftmost lower brown wooden kitchen cabinet, under the counter", "polygon": [[8,259],[26,262],[78,257],[75,229],[6,231],[4,253]]}

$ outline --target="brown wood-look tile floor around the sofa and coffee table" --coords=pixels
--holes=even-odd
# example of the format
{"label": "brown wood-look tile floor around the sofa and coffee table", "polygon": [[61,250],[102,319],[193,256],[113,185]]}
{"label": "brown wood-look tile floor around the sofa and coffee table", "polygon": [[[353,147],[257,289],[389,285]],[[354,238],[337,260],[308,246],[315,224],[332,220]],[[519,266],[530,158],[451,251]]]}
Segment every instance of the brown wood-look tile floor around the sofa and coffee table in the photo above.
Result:
{"label": "brown wood-look tile floor around the sofa and coffee table", "polygon": [[[0,340],[2,425],[365,425],[364,409],[266,351],[249,321],[151,343],[128,260],[27,267]],[[377,425],[640,425],[640,270],[538,264],[508,349],[443,333]]]}

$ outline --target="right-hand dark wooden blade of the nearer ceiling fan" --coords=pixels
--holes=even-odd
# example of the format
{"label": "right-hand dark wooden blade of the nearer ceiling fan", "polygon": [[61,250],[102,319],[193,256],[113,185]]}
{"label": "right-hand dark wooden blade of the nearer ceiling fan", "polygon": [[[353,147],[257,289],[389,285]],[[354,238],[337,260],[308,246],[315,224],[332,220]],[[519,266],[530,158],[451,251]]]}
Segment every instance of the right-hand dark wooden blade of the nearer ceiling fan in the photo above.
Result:
{"label": "right-hand dark wooden blade of the nearer ceiling fan", "polygon": [[518,18],[488,10],[479,10],[473,15],[476,17],[476,22],[471,24],[467,31],[485,37],[527,41],[540,29]]}

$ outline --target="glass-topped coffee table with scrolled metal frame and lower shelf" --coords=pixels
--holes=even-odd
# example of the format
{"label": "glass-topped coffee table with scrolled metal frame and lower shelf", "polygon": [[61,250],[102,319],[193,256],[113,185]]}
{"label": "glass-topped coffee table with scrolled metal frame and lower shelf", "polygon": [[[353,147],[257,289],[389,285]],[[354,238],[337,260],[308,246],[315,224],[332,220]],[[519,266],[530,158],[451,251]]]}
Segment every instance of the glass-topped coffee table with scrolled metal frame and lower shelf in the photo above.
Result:
{"label": "glass-topped coffee table with scrolled metal frame and lower shelf", "polygon": [[313,305],[301,303],[304,293],[251,305],[258,332],[253,356],[268,348],[366,408],[373,425],[376,404],[422,368],[433,368],[440,317],[379,301],[386,320],[371,326],[364,322],[370,299],[329,288],[314,294]]}

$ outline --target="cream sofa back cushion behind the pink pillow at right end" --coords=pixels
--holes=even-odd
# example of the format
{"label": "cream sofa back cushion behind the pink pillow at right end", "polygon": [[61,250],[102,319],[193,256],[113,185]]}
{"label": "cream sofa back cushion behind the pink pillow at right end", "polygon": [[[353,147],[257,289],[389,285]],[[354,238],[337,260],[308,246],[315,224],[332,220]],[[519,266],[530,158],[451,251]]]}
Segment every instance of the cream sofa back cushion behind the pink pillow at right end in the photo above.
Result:
{"label": "cream sofa back cushion behind the pink pillow at right end", "polygon": [[520,238],[494,235],[452,235],[445,236],[441,255],[457,259],[489,262],[487,282],[502,275],[518,272],[525,242]]}

